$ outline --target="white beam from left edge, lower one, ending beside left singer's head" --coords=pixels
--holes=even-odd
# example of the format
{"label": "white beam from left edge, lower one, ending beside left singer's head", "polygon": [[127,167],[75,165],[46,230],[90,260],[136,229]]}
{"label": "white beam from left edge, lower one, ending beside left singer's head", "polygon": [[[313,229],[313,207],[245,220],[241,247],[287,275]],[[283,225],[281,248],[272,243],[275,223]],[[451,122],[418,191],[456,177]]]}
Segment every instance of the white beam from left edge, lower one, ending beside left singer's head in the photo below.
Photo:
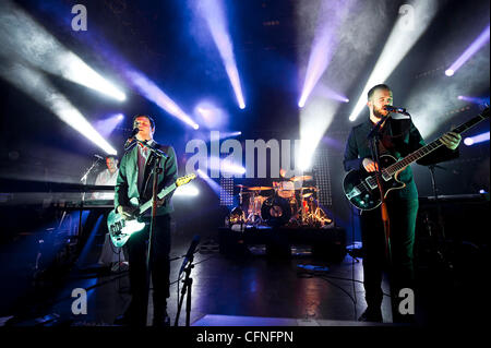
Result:
{"label": "white beam from left edge, lower one, ending beside left singer's head", "polygon": [[25,68],[21,64],[2,65],[0,67],[0,75],[37,100],[40,105],[51,110],[60,120],[100,147],[106,154],[117,154],[117,151],[39,71]]}

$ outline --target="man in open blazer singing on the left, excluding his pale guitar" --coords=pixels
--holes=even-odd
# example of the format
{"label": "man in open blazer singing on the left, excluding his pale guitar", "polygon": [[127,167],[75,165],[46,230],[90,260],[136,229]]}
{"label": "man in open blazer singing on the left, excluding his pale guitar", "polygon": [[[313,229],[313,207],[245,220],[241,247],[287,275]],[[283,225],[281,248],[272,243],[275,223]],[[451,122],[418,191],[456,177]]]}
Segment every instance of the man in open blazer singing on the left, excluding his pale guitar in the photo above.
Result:
{"label": "man in open blazer singing on the left, excluding his pale guitar", "polygon": [[[115,188],[115,208],[124,219],[133,219],[135,204],[152,199],[154,155],[148,148],[137,141],[146,142],[154,148],[166,154],[161,158],[163,172],[158,175],[158,191],[172,184],[177,179],[177,160],[172,146],[159,145],[154,139],[155,121],[146,115],[137,115],[133,118],[133,133],[127,142],[127,152],[121,158],[119,176]],[[137,140],[137,141],[136,141]],[[173,207],[170,201],[171,193],[163,200],[157,201],[155,230],[153,231],[151,271],[153,283],[154,326],[166,326],[170,324],[167,315],[167,298],[169,297],[169,252],[170,252],[170,213]],[[115,324],[121,325],[146,325],[148,287],[146,268],[146,241],[151,213],[143,216],[146,226],[143,230],[131,235],[128,239],[128,256],[130,266],[130,291],[131,302],[122,316]]]}

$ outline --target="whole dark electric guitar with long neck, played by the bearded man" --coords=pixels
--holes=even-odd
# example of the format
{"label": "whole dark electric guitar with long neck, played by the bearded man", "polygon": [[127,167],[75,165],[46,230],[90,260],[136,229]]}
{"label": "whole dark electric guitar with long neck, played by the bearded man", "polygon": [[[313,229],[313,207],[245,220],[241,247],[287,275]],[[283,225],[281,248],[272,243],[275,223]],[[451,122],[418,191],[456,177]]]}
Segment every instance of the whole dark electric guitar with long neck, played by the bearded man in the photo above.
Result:
{"label": "whole dark electric guitar with long neck, played by the bearded man", "polygon": [[[455,133],[463,133],[486,119],[489,119],[489,107],[471,120],[452,131]],[[404,182],[397,179],[400,171],[411,163],[424,157],[440,146],[443,146],[443,144],[439,137],[399,160],[391,155],[380,156],[380,166],[382,169],[381,181],[384,197],[387,196],[388,192],[400,190],[406,187]],[[369,173],[364,170],[350,170],[343,181],[343,189],[349,202],[361,211],[374,209],[382,203],[376,176],[374,173]]]}

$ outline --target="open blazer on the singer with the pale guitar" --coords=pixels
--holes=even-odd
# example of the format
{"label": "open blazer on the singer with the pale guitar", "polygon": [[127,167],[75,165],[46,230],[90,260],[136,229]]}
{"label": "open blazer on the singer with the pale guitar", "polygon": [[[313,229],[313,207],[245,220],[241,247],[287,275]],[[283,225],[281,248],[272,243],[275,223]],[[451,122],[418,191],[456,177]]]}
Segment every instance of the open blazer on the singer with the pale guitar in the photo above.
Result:
{"label": "open blazer on the singer with the pale guitar", "polygon": [[[157,187],[158,192],[164,188],[172,184],[177,179],[178,165],[176,160],[176,152],[172,146],[160,145],[155,143],[154,147],[163,151],[168,157],[163,158],[160,166],[164,169],[158,176]],[[137,166],[137,145],[128,149],[121,163],[119,165],[119,175],[116,180],[115,187],[115,208],[117,209],[119,205],[130,206],[130,200],[136,199],[140,204],[145,203],[152,199],[152,187],[153,187],[153,175],[149,175],[156,156],[151,153],[145,165],[145,173],[143,177],[143,188],[142,192],[139,192],[137,178],[139,178],[139,166]],[[173,192],[172,192],[173,193]],[[165,203],[157,207],[157,215],[166,215],[173,212],[173,205],[171,202],[172,193],[170,193]],[[134,201],[134,200],[133,200]],[[149,215],[151,209],[145,215]]]}

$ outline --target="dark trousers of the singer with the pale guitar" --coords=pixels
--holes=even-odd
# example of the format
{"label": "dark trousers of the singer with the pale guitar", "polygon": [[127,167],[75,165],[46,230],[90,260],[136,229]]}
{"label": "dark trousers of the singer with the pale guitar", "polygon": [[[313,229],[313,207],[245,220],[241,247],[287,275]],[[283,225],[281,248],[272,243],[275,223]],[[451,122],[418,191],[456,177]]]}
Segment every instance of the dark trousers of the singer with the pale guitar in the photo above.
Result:
{"label": "dark trousers of the singer with the pale guitar", "polygon": [[[146,324],[148,303],[148,281],[146,268],[147,241],[149,220],[146,227],[133,233],[127,242],[128,262],[130,266],[131,304],[127,312],[136,325]],[[170,273],[170,215],[156,216],[155,230],[152,240],[151,273],[153,284],[154,317],[164,315],[169,297]]]}

